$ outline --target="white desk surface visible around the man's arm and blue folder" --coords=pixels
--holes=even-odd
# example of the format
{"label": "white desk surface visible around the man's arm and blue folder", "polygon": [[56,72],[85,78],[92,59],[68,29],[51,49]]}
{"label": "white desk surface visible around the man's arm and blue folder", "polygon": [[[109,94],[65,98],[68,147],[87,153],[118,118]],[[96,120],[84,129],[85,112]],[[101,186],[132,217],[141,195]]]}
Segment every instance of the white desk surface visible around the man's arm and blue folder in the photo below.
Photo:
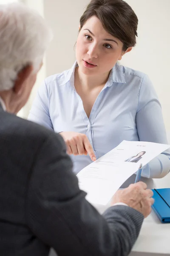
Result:
{"label": "white desk surface visible around the man's arm and blue folder", "polygon": [[[131,176],[122,187],[134,183],[135,175]],[[148,188],[168,188],[170,187],[170,174],[162,179],[141,178],[147,183]],[[105,209],[96,206],[100,213]],[[56,256],[51,250],[50,256]],[[161,224],[154,212],[144,219],[139,237],[134,244],[129,256],[170,256],[170,224]]]}

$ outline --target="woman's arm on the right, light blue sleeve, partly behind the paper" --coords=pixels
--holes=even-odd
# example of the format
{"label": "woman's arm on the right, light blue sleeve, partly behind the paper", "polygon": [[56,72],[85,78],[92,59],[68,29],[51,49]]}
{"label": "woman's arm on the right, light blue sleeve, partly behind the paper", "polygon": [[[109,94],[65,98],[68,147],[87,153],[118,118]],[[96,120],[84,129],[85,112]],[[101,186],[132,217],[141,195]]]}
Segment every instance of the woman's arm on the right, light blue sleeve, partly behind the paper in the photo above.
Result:
{"label": "woman's arm on the right, light blue sleeve, partly behind the paper", "polygon": [[[144,76],[139,90],[136,127],[140,141],[168,144],[161,105],[148,76]],[[170,150],[168,149],[144,166],[142,176],[161,178],[169,171]]]}

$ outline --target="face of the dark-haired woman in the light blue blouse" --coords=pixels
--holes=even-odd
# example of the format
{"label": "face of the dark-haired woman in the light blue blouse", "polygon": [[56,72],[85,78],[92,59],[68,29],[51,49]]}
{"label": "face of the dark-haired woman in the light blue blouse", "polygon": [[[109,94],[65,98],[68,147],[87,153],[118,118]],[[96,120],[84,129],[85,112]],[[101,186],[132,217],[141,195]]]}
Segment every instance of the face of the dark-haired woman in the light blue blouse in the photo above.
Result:
{"label": "face of the dark-haired woman in the light blue blouse", "polygon": [[123,43],[106,32],[100,20],[92,16],[77,38],[76,58],[80,70],[88,76],[108,73],[125,54],[122,47]]}

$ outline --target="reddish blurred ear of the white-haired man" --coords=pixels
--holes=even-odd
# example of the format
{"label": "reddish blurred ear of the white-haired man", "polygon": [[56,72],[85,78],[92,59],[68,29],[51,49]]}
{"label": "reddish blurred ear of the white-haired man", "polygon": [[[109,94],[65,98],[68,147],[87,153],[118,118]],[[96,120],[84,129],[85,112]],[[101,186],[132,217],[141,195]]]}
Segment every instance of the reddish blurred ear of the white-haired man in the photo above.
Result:
{"label": "reddish blurred ear of the white-haired man", "polygon": [[20,70],[20,72],[17,74],[17,79],[14,82],[14,87],[13,87],[14,93],[20,94],[20,92],[22,91],[24,82],[31,75],[32,72],[33,72],[32,65],[27,65],[22,70]]}

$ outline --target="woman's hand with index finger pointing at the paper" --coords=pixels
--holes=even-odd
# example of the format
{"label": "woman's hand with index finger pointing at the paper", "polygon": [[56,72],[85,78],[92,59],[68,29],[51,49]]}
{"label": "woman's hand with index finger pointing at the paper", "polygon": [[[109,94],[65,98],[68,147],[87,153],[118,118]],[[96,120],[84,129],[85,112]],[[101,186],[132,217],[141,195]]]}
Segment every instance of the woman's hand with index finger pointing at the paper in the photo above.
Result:
{"label": "woman's hand with index finger pointing at the paper", "polygon": [[68,154],[74,154],[75,156],[89,154],[92,161],[96,160],[91,143],[85,134],[74,131],[63,131],[60,133],[60,135],[65,140]]}

